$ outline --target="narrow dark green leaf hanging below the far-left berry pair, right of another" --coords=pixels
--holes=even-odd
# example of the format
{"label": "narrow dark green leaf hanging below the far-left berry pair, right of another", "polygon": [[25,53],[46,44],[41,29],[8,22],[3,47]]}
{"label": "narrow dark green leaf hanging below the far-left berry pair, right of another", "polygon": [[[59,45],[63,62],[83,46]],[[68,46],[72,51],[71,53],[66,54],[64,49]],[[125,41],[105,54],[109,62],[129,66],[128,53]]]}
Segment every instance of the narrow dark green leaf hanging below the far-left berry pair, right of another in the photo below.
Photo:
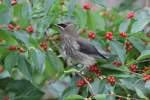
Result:
{"label": "narrow dark green leaf hanging below the far-left berry pair, right of another", "polygon": [[24,77],[28,80],[31,80],[31,66],[30,64],[26,61],[26,58],[24,55],[19,55],[18,59],[18,68],[24,75]]}

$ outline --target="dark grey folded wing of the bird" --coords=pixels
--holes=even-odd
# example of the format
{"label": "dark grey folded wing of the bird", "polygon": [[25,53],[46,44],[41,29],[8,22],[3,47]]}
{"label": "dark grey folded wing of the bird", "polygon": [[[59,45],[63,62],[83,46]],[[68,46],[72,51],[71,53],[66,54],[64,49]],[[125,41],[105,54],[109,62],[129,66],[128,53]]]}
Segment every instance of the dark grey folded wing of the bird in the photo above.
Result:
{"label": "dark grey folded wing of the bird", "polygon": [[97,58],[104,58],[107,59],[101,52],[97,50],[95,45],[91,44],[90,41],[85,39],[78,39],[77,43],[79,44],[79,50],[80,52],[83,52],[85,54],[97,57]]}

